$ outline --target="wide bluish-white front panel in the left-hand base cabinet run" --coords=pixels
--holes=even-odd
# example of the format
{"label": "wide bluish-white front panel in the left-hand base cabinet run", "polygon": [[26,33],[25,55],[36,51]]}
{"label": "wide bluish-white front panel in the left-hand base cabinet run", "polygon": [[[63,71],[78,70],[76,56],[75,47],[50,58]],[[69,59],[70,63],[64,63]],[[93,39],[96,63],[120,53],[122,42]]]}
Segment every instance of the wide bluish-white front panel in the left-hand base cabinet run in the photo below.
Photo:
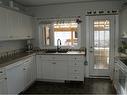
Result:
{"label": "wide bluish-white front panel in the left-hand base cabinet run", "polygon": [[9,94],[18,94],[24,89],[23,65],[6,70],[7,88]]}

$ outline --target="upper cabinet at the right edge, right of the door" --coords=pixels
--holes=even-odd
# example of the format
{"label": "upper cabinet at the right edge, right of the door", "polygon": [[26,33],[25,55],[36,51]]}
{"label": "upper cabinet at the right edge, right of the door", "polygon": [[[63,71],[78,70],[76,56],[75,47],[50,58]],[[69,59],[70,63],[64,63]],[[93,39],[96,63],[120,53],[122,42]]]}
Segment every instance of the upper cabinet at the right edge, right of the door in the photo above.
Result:
{"label": "upper cabinet at the right edge, right of the door", "polygon": [[127,38],[127,7],[120,12],[120,35]]}

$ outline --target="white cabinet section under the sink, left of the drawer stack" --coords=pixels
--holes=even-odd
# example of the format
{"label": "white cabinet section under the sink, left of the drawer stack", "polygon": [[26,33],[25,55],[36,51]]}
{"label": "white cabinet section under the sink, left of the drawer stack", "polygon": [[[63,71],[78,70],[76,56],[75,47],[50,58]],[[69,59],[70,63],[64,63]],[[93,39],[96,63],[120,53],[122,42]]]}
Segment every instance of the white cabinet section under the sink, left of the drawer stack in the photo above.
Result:
{"label": "white cabinet section under the sink, left of the drawer stack", "polygon": [[37,78],[38,79],[67,79],[67,62],[61,58],[66,56],[38,55]]}

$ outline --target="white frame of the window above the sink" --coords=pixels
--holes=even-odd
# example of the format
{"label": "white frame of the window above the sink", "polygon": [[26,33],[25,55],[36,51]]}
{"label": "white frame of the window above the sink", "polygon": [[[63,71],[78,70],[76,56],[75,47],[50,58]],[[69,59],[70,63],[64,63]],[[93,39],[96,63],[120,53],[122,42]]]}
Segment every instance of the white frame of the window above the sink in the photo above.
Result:
{"label": "white frame of the window above the sink", "polygon": [[[42,34],[44,34],[43,33],[43,28],[42,28],[42,26],[43,25],[46,25],[46,24],[50,24],[50,27],[51,27],[51,32],[50,32],[50,40],[51,40],[51,44],[50,45],[45,45],[45,37],[43,37],[44,35],[42,35]],[[77,46],[61,46],[61,48],[62,49],[79,49],[80,48],[80,46],[81,46],[81,24],[77,24],[78,25],[78,43],[77,43]],[[54,45],[54,22],[48,22],[48,23],[44,23],[44,22],[41,22],[41,23],[39,23],[39,47],[40,47],[40,49],[55,49],[57,46],[55,46]]]}

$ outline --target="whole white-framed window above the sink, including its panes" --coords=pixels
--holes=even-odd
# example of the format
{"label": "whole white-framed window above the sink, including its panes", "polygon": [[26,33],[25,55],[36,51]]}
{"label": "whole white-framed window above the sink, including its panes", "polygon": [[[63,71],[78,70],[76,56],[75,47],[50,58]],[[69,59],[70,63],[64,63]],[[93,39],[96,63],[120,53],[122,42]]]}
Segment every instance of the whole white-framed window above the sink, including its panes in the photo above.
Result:
{"label": "whole white-framed window above the sink, including its panes", "polygon": [[79,48],[80,36],[80,24],[74,19],[42,22],[39,25],[40,48],[56,47],[58,39],[62,48]]}

